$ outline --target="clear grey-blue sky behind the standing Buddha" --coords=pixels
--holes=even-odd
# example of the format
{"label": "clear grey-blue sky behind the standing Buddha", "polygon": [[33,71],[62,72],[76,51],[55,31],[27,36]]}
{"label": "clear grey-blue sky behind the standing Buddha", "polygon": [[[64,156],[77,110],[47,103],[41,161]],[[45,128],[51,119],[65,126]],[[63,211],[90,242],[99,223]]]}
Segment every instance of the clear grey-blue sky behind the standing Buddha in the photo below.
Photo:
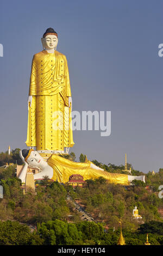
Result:
{"label": "clear grey-blue sky behind the standing Buddha", "polygon": [[0,151],[26,148],[33,55],[48,27],[67,57],[73,110],[111,111],[111,135],[74,131],[70,150],[103,163],[163,168],[163,2],[151,0],[1,1]]}

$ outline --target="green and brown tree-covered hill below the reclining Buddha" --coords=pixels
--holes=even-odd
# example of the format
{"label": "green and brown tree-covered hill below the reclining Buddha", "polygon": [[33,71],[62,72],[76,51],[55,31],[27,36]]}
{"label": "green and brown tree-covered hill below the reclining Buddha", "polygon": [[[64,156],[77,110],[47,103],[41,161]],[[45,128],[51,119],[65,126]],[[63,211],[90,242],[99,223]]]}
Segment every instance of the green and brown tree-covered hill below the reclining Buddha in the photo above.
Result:
{"label": "green and brown tree-covered hill below the reclining Buddha", "polygon": [[[9,162],[18,161],[16,152],[18,150],[15,159]],[[7,153],[0,154],[0,161],[2,155]],[[76,161],[74,153],[66,157]],[[81,157],[79,161],[85,159]],[[99,163],[97,160],[92,162]],[[135,182],[134,186],[126,187],[108,184],[99,178],[87,180],[83,188],[73,189],[45,179],[36,186],[35,192],[23,194],[15,168],[15,162],[8,168],[0,168],[4,189],[4,198],[0,199],[0,245],[116,245],[120,217],[127,245],[143,245],[147,233],[152,245],[163,245],[163,199],[158,196],[159,185],[163,185],[162,169],[155,175],[152,172],[145,174],[146,184]],[[105,167],[109,172],[111,169],[112,172],[123,172],[112,164]],[[132,172],[133,175],[134,172],[141,174],[133,167]],[[96,222],[83,222],[80,212],[67,204],[67,195],[90,212]],[[135,205],[142,216],[141,221],[132,217]],[[33,232],[29,225],[33,226]]]}

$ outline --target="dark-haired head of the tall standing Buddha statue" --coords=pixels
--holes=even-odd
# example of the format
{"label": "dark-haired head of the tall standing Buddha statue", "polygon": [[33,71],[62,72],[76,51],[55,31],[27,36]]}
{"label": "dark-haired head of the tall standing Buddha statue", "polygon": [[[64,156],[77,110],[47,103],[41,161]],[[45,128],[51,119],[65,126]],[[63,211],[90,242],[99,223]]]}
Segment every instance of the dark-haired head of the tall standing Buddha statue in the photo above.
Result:
{"label": "dark-haired head of the tall standing Buddha statue", "polygon": [[53,28],[47,28],[46,32],[41,38],[42,46],[46,50],[52,50],[57,48],[58,44],[58,34]]}

